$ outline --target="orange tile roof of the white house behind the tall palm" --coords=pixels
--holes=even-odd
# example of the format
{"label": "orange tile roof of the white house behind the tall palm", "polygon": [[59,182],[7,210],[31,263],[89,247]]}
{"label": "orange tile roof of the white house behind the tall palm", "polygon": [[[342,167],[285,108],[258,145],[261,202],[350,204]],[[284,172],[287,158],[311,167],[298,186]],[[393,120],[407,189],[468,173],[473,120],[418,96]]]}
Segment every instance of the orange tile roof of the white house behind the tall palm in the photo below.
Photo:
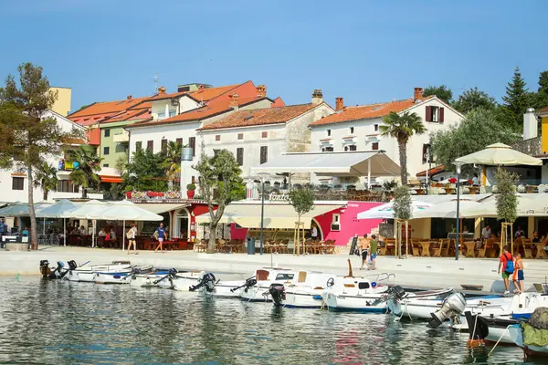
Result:
{"label": "orange tile roof of the white house behind the tall palm", "polygon": [[[429,99],[425,98],[425,99]],[[425,100],[423,99],[423,101]],[[361,105],[356,107],[345,107],[335,114],[329,115],[321,120],[311,123],[311,126],[341,123],[350,120],[370,120],[374,118],[385,117],[391,111],[400,112],[415,105],[413,99],[395,100],[379,104]]]}

